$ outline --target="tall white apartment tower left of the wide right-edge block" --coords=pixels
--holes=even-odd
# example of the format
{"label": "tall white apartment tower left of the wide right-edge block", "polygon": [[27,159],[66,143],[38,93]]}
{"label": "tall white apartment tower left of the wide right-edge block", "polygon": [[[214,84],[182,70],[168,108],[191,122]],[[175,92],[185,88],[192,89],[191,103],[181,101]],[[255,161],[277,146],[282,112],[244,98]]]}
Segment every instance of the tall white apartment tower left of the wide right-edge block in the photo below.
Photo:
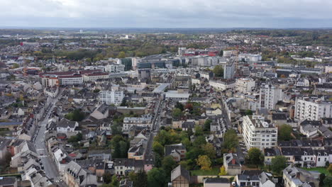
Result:
{"label": "tall white apartment tower left of the wide right-edge block", "polygon": [[275,104],[282,100],[282,89],[265,84],[260,89],[260,108],[275,109]]}

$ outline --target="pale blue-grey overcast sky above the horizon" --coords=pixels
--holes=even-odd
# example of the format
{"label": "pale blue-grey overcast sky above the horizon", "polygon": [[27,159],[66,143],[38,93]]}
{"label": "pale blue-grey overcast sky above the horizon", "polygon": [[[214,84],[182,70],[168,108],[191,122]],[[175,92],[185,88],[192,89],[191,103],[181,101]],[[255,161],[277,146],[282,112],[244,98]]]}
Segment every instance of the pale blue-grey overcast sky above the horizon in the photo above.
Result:
{"label": "pale blue-grey overcast sky above the horizon", "polygon": [[0,0],[0,26],[332,28],[332,0]]}

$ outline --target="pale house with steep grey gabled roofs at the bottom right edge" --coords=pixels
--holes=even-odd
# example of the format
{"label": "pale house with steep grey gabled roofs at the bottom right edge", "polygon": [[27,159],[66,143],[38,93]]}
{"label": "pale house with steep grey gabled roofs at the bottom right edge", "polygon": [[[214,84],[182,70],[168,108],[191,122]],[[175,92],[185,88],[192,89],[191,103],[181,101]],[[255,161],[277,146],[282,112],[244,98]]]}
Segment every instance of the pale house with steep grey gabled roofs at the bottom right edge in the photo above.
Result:
{"label": "pale house with steep grey gabled roofs at the bottom right edge", "polygon": [[319,172],[306,171],[289,165],[282,171],[284,187],[316,187],[319,186]]}

